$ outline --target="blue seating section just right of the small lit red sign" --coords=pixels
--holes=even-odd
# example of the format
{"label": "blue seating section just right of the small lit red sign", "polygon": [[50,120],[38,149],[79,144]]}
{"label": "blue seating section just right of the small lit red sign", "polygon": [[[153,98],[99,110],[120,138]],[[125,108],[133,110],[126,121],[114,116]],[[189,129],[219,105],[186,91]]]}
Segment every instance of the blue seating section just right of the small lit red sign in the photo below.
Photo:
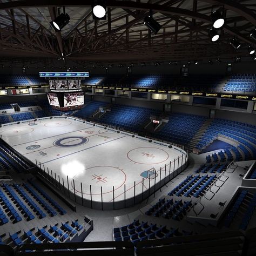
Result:
{"label": "blue seating section just right of the small lit red sign", "polygon": [[169,122],[154,133],[154,137],[177,144],[188,144],[207,117],[185,113],[170,113]]}

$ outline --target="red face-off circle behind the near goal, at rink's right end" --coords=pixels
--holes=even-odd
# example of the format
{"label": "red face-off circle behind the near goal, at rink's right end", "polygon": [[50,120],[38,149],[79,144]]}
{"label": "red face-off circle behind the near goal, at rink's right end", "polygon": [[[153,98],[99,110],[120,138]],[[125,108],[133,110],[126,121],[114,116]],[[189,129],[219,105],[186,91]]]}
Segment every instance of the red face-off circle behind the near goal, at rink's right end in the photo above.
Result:
{"label": "red face-off circle behind the near goal, at rink's right end", "polygon": [[169,154],[158,147],[137,147],[127,153],[127,158],[137,164],[161,164]]}

